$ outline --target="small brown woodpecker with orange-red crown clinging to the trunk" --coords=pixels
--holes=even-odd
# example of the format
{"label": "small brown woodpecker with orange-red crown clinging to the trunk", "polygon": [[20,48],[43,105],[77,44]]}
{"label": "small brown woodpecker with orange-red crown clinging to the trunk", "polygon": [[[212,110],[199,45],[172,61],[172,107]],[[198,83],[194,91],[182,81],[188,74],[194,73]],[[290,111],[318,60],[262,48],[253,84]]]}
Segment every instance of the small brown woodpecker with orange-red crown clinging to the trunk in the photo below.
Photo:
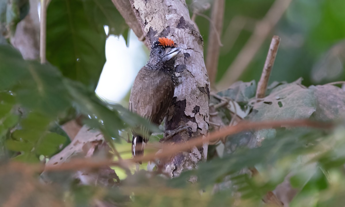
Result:
{"label": "small brown woodpecker with orange-red crown clinging to the trunk", "polygon": [[[152,42],[150,57],[136,76],[130,96],[129,110],[148,119],[152,124],[160,125],[167,115],[178,83],[175,75],[175,60],[181,48],[166,37],[159,37]],[[144,155],[144,143],[148,142],[151,132],[144,126],[132,127],[132,157]]]}

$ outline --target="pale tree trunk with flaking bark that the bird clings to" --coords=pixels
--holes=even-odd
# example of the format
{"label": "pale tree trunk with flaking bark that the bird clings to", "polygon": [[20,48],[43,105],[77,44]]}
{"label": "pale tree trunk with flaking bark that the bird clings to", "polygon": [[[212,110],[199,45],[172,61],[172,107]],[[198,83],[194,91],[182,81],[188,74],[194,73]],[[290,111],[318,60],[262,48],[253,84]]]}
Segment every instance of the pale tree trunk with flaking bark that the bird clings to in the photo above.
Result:
{"label": "pale tree trunk with flaking bark that the bird clings to", "polygon": [[[182,131],[168,141],[185,142],[192,137],[207,135],[209,128],[209,79],[206,72],[204,41],[190,20],[185,0],[130,0],[139,20],[146,41],[151,45],[158,37],[174,40],[183,50],[176,60],[179,85],[174,101],[165,119],[165,129],[172,130],[187,125],[189,132]],[[171,177],[185,169],[196,168],[206,160],[208,144],[180,152],[165,162],[165,171]]]}

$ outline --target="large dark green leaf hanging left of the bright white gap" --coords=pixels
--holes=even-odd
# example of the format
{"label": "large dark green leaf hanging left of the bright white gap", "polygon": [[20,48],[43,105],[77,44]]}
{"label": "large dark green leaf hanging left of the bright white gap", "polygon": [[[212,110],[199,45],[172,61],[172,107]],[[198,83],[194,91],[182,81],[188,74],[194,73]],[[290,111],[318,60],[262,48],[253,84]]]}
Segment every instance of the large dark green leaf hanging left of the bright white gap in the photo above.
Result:
{"label": "large dark green leaf hanging left of the bright white gap", "polygon": [[[53,0],[47,11],[47,59],[65,77],[95,89],[106,61],[106,34],[88,18],[92,0]],[[111,2],[111,1],[110,1]],[[115,21],[115,20],[114,20]]]}

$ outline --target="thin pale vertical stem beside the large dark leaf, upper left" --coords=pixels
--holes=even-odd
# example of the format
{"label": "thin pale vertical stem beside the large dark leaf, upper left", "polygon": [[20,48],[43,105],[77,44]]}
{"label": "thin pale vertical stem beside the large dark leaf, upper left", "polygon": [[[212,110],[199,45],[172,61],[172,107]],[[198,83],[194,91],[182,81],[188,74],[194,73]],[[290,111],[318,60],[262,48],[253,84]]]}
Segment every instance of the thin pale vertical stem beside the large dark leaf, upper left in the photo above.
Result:
{"label": "thin pale vertical stem beside the large dark leaf, upper left", "polygon": [[41,0],[41,19],[40,19],[40,60],[41,64],[47,62],[47,0]]}

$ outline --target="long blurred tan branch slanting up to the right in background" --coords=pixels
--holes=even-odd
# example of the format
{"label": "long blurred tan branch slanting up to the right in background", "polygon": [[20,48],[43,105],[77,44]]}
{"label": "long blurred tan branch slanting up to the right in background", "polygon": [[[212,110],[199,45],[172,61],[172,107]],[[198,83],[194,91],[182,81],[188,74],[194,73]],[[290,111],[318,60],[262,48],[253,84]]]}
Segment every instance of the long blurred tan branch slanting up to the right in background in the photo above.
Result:
{"label": "long blurred tan branch slanting up to the right in background", "polygon": [[235,82],[253,60],[261,45],[273,27],[283,16],[292,0],[276,0],[266,13],[265,17],[256,24],[255,30],[249,40],[231,63],[223,78],[219,81],[217,89],[226,89]]}

